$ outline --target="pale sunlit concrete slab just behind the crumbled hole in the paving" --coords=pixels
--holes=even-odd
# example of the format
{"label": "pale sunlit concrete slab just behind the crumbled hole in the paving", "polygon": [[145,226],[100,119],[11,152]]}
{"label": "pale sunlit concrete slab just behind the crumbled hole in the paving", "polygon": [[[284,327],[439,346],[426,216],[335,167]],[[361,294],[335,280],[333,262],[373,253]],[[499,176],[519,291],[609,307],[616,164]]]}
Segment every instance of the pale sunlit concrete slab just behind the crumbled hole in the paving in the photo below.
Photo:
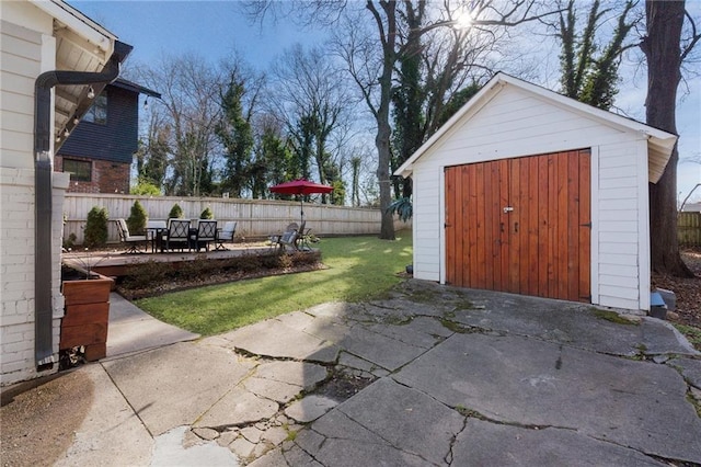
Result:
{"label": "pale sunlit concrete slab just behind the crumbled hole in the paving", "polygon": [[332,343],[290,328],[277,319],[267,319],[226,334],[233,348],[274,358],[333,363],[338,349]]}

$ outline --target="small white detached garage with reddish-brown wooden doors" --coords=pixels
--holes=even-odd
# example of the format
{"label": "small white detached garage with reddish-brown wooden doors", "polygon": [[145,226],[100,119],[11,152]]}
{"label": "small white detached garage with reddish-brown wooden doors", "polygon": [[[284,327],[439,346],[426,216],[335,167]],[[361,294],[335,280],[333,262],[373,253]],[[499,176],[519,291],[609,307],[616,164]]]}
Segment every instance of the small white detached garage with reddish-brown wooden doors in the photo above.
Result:
{"label": "small white detached garage with reddish-brown wooden doors", "polygon": [[395,172],[414,277],[648,310],[647,186],[676,139],[496,75]]}

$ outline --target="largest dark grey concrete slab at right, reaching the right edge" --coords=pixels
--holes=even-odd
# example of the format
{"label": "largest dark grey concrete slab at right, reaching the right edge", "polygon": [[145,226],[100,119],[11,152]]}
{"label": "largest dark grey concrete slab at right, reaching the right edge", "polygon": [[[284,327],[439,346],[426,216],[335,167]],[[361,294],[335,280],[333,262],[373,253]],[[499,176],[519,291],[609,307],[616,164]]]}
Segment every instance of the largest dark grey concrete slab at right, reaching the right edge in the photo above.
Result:
{"label": "largest dark grey concrete slab at right, reaching the right edge", "polygon": [[701,420],[682,378],[665,365],[521,337],[456,334],[394,377],[487,419],[701,462]]}

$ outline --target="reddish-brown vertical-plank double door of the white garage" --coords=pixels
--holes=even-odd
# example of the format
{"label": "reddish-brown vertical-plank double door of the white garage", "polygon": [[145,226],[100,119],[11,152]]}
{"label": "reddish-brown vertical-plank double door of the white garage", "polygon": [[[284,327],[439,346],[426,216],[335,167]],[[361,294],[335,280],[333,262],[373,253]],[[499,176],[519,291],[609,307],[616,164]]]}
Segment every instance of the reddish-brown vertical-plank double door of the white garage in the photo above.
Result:
{"label": "reddish-brown vertical-plank double door of the white garage", "polygon": [[447,168],[446,281],[590,301],[588,149]]}

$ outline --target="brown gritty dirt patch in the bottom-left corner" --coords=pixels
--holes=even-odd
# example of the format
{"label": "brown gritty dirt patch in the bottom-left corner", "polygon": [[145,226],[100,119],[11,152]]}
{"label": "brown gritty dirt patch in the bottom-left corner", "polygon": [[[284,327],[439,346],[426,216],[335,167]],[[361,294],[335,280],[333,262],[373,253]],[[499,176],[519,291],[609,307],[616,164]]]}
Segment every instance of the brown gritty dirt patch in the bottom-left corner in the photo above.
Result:
{"label": "brown gritty dirt patch in the bottom-left corner", "polygon": [[66,373],[3,406],[2,466],[49,466],[58,460],[88,414],[93,390],[83,373]]}

